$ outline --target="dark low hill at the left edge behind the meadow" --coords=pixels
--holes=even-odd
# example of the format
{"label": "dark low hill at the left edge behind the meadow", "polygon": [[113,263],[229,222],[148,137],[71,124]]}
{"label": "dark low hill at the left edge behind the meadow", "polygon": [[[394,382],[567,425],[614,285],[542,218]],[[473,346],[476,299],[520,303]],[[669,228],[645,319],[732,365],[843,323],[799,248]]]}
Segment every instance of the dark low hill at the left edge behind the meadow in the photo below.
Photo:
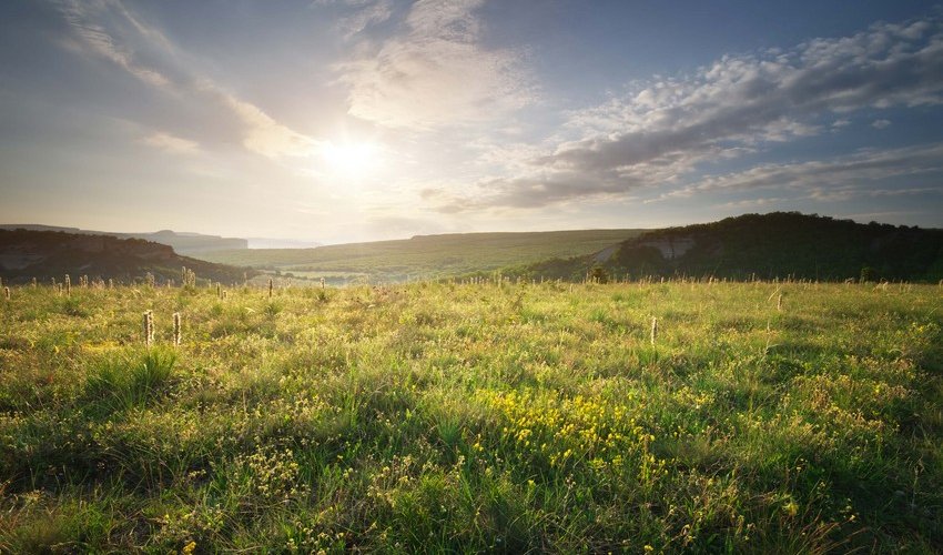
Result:
{"label": "dark low hill at the left edge behind the meadow", "polygon": [[169,245],[142,239],[0,230],[0,276],[4,282],[24,283],[33,278],[45,281],[70,274],[77,281],[79,275],[88,275],[91,280],[128,283],[150,272],[159,283],[180,283],[182,266],[199,279],[224,283],[241,282],[245,273],[245,269],[181,256]]}

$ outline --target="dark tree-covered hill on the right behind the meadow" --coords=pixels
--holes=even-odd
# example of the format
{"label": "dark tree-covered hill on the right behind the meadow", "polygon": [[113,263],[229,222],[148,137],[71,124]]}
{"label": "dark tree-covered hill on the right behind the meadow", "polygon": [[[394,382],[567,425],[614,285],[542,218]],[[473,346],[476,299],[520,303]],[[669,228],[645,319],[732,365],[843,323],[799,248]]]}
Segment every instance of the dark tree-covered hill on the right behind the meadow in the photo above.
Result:
{"label": "dark tree-covered hill on the right behind the meadow", "polygon": [[746,214],[649,231],[618,249],[545,261],[519,273],[581,279],[596,265],[610,275],[631,278],[935,282],[943,279],[943,230],[860,224],[795,212]]}

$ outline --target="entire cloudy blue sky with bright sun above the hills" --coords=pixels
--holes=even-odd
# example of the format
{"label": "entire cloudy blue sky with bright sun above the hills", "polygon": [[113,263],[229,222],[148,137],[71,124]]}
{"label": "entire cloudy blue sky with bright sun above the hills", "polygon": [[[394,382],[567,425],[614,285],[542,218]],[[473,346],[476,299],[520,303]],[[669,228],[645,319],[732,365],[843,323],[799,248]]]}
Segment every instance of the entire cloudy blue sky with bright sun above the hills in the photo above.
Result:
{"label": "entire cloudy blue sky with bright sun above the hills", "polygon": [[0,223],[943,228],[927,1],[7,0]]}

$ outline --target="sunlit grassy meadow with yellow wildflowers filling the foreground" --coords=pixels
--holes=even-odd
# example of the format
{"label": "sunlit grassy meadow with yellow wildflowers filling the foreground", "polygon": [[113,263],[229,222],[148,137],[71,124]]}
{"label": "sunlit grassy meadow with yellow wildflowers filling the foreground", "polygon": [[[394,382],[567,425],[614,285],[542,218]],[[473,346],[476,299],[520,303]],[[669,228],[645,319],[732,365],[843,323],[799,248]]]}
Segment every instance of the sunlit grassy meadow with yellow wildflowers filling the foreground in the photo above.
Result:
{"label": "sunlit grassy meadow with yellow wildflowers filling the foreground", "polygon": [[0,552],[939,553],[942,293],[14,287]]}

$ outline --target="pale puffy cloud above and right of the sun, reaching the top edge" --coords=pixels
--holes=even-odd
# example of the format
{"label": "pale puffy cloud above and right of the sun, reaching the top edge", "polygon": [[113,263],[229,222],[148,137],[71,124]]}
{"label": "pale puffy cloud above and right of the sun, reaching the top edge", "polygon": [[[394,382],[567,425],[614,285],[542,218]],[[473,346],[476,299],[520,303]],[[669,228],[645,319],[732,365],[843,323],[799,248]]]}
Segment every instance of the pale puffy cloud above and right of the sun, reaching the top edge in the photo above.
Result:
{"label": "pale puffy cloud above and right of the sun, reaching the top edge", "polygon": [[348,112],[393,128],[491,121],[531,101],[521,56],[481,46],[484,0],[419,0],[406,32],[336,65]]}

